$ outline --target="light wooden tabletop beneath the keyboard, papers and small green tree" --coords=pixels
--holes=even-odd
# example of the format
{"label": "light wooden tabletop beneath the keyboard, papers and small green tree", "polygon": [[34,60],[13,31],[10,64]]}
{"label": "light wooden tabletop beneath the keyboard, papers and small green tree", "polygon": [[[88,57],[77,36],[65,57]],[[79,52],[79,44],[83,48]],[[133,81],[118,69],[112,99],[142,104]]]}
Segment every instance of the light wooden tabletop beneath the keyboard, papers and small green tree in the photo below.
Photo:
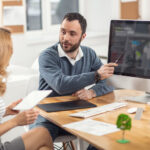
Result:
{"label": "light wooden tabletop beneath the keyboard, papers and small green tree", "polygon": [[[134,91],[134,90],[116,90],[113,93],[109,93],[104,96],[96,97],[90,100],[90,102],[96,105],[106,105],[108,103],[112,103],[114,101],[123,101],[122,98],[126,96],[138,96],[143,95],[144,92],[141,91]],[[75,100],[75,97],[72,96],[63,96],[63,97],[53,97],[53,98],[46,98],[41,103],[50,103],[50,102],[59,102],[61,101],[68,101],[68,100]],[[107,134],[104,136],[94,136],[91,134],[87,134],[84,132],[67,129],[70,133],[84,139],[85,141],[91,143],[97,148],[103,148],[105,150],[149,150],[150,149],[150,109],[146,104],[140,103],[132,103],[128,102],[128,106],[117,109],[115,111],[106,112],[103,114],[99,114],[93,117],[90,117],[94,120],[100,120],[107,123],[116,123],[117,116],[120,113],[126,113],[127,109],[130,107],[143,107],[145,111],[143,112],[141,120],[134,120],[135,114],[129,114],[132,118],[132,128],[130,131],[126,131],[125,138],[130,140],[130,143],[127,144],[119,144],[116,140],[121,139],[122,131]],[[150,107],[150,106],[149,106]],[[39,109],[40,110],[40,109]],[[86,109],[82,109],[86,110]],[[47,118],[48,120],[52,121],[53,123],[57,124],[58,126],[62,127],[62,125],[80,121],[81,118],[70,117],[69,114],[75,113],[80,110],[71,110],[71,111],[62,111],[62,112],[53,112],[47,113],[43,110],[40,110],[40,114]],[[62,127],[63,128],[63,127]]]}

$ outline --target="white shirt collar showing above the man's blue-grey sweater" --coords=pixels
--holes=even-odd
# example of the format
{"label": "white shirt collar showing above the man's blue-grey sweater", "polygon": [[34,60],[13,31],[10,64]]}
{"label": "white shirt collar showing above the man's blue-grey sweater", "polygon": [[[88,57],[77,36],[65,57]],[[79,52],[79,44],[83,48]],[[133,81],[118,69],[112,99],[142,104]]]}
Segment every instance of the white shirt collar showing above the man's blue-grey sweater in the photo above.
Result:
{"label": "white shirt collar showing above the man's blue-grey sweater", "polygon": [[80,60],[83,57],[83,52],[82,52],[81,47],[79,47],[79,52],[76,56],[76,59],[72,59],[64,52],[60,44],[58,44],[58,54],[59,54],[59,57],[66,57],[72,65],[74,65],[78,60]]}

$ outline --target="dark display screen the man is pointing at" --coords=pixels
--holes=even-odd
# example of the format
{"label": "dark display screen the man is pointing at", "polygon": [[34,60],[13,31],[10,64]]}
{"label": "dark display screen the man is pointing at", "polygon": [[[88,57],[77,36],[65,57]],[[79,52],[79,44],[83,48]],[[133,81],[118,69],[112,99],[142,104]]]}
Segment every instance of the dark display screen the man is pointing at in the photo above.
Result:
{"label": "dark display screen the man is pointing at", "polygon": [[114,74],[150,78],[150,21],[112,20],[108,62]]}

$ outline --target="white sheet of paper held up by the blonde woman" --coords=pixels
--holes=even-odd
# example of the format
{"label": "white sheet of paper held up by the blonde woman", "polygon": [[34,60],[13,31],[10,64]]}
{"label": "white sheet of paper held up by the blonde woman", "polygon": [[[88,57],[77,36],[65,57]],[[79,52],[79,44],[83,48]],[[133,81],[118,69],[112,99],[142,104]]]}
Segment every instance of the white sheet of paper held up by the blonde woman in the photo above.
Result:
{"label": "white sheet of paper held up by the blonde woman", "polygon": [[48,96],[52,91],[51,90],[36,90],[32,91],[27,95],[21,103],[19,103],[14,110],[28,110],[36,106],[42,99]]}

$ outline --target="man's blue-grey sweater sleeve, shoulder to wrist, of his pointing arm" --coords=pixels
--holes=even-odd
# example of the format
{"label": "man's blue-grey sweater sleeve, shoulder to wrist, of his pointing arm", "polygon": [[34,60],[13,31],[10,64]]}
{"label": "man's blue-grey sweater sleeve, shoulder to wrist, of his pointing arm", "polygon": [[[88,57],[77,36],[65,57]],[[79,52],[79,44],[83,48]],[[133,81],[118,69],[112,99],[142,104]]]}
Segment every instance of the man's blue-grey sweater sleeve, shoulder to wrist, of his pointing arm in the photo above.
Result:
{"label": "man's blue-grey sweater sleeve, shoulder to wrist, of his pointing arm", "polygon": [[42,53],[39,57],[40,75],[58,94],[72,94],[95,82],[95,72],[65,75],[55,54]]}

